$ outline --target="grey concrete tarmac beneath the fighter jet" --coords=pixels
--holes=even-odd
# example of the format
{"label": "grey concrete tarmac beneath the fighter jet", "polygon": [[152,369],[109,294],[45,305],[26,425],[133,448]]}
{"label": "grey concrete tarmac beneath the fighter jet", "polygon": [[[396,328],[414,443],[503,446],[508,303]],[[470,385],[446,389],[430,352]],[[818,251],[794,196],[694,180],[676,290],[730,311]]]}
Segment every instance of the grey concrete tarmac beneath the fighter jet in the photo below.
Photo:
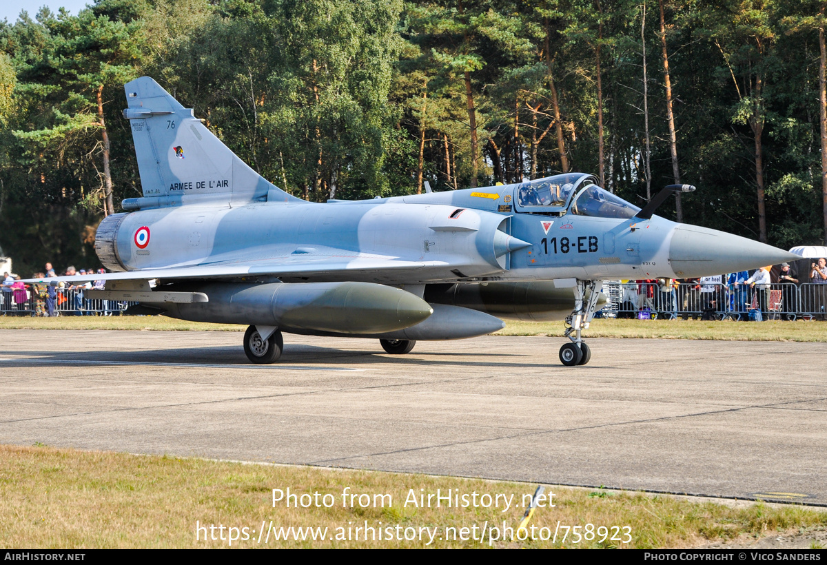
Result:
{"label": "grey concrete tarmac beneath the fighter jet", "polygon": [[0,443],[827,505],[827,344],[0,330]]}

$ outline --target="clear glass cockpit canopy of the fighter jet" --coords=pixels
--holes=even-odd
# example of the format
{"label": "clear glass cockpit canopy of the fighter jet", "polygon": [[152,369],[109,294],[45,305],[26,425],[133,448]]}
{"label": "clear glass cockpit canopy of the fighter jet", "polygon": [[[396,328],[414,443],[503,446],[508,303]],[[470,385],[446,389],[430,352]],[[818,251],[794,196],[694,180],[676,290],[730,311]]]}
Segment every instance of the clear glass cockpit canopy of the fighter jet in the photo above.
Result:
{"label": "clear glass cockpit canopy of the fighter jet", "polygon": [[[633,206],[595,183],[586,173],[565,173],[519,184],[517,211],[562,216],[566,212],[595,218],[633,218]],[[571,204],[571,205],[570,205]]]}

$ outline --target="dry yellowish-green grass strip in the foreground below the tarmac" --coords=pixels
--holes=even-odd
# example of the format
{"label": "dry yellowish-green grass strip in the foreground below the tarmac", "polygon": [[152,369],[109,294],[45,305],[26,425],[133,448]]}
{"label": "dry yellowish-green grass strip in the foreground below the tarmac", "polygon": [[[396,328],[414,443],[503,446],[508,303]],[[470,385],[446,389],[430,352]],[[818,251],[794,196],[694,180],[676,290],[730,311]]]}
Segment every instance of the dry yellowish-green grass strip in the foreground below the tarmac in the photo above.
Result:
{"label": "dry yellowish-green grass strip in the foreground below the tarmac", "polygon": [[[283,501],[274,505],[272,489],[286,491],[288,487],[299,496],[318,493],[320,507],[287,508]],[[343,505],[346,487],[350,494],[368,495],[370,502],[362,507],[356,498]],[[474,492],[479,497],[514,496],[512,500],[520,505],[515,508],[512,502],[503,512],[502,504],[499,508],[445,507],[444,502],[437,508],[433,500],[430,507],[404,504],[411,493],[435,495],[437,489],[443,496],[449,489],[468,496]],[[547,493],[554,493],[555,507],[534,512],[529,526],[534,527],[537,539],[512,541],[508,534],[502,539],[500,532],[500,539],[491,540],[489,534],[480,541],[486,523],[500,530],[504,526],[516,529],[523,515],[523,495],[533,491],[534,485],[526,483],[448,476],[0,446],[0,513],[4,517],[0,539],[7,548],[210,548],[228,547],[228,528],[232,527],[238,529],[239,537],[232,547],[238,548],[420,548],[428,542],[427,531],[436,532],[430,547],[438,548],[687,548],[827,525],[827,513],[801,506],[756,503],[744,507],[674,496],[547,487]],[[330,495],[328,502],[333,500],[329,508],[324,507],[325,495]],[[380,503],[375,495],[390,498]],[[262,536],[259,542],[262,522],[266,531],[270,521],[276,530],[327,529],[327,537],[333,539],[276,541],[270,530],[270,541],[265,543]],[[581,539],[576,542],[570,529],[563,542],[558,522],[581,526]],[[207,529],[197,532],[197,524]],[[402,537],[405,532],[415,531],[417,536],[423,532],[424,539],[353,539],[356,527],[365,524],[385,532],[392,529],[394,536],[396,532]],[[210,525],[215,529],[210,530]],[[601,526],[609,534],[603,540]],[[610,539],[612,526],[619,527],[614,537],[620,540]],[[243,528],[249,539],[243,539]],[[463,528],[467,529],[464,540]],[[472,539],[475,528],[477,539]],[[555,529],[556,542],[539,539],[543,533],[552,536]],[[219,539],[212,539],[213,532]],[[445,539],[452,532],[457,539]],[[337,535],[345,539],[337,540]]]}

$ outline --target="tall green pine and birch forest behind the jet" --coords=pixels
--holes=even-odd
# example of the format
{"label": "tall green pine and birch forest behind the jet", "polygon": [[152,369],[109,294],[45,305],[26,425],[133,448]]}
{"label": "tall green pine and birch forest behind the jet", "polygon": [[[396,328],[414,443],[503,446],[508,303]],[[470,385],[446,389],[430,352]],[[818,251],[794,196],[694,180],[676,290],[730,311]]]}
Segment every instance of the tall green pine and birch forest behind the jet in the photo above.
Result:
{"label": "tall green pine and birch forest behind the jet", "polygon": [[99,266],[141,195],[149,75],[291,194],[367,199],[567,170],[778,247],[827,234],[825,0],[98,0],[0,22],[0,255]]}

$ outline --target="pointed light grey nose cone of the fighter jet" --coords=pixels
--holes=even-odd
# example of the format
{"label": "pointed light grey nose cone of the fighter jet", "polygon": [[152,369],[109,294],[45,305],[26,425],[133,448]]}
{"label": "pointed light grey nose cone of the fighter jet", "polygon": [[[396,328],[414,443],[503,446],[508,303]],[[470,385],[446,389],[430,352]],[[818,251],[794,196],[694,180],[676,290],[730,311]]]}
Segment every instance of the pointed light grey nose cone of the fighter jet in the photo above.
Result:
{"label": "pointed light grey nose cone of the fighter jet", "polygon": [[680,224],[669,244],[669,263],[681,278],[720,275],[796,261],[801,256],[707,227]]}

